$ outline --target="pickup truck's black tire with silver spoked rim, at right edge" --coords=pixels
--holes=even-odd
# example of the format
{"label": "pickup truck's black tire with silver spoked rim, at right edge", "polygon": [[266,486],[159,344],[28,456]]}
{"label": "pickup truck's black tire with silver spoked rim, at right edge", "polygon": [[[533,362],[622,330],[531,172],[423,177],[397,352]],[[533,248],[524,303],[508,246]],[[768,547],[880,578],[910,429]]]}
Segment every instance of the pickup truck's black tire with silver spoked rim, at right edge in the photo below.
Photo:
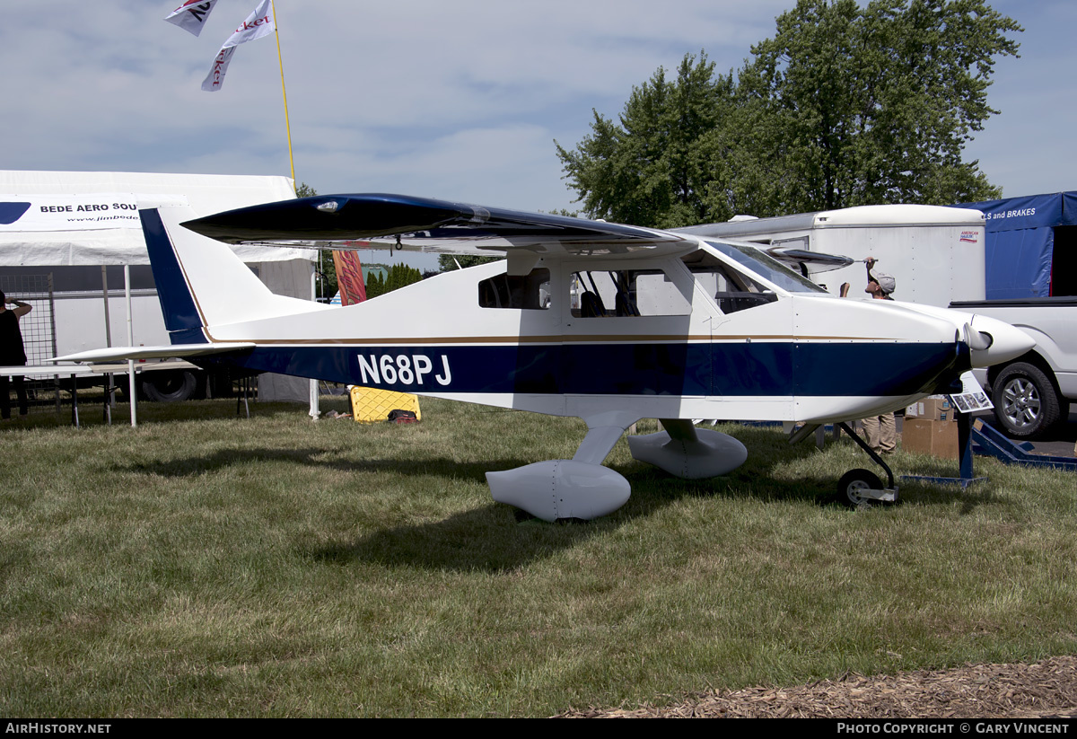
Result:
{"label": "pickup truck's black tire with silver spoked rim, at right edge", "polygon": [[1015,362],[998,373],[992,382],[991,402],[1003,429],[1017,438],[1038,438],[1062,413],[1051,380],[1027,362]]}

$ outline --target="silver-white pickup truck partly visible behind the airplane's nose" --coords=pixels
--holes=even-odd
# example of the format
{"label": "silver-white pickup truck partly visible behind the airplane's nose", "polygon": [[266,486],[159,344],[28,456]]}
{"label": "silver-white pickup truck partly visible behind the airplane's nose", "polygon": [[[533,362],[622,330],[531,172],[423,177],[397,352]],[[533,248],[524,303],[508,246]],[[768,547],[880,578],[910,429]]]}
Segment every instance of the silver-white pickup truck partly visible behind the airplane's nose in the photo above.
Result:
{"label": "silver-white pickup truck partly visible behind the airplane's nose", "polygon": [[951,308],[1010,323],[1036,341],[1022,357],[975,374],[1007,435],[1037,438],[1069,417],[1077,401],[1077,297],[959,301]]}

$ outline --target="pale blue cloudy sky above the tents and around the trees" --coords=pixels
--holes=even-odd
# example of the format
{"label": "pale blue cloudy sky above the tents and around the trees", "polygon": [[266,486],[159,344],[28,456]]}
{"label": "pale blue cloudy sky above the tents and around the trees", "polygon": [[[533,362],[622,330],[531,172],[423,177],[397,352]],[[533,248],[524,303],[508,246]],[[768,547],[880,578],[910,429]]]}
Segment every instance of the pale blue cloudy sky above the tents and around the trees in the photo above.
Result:
{"label": "pale blue cloudy sky above the tents and around the trees", "polygon": [[[4,3],[0,168],[288,175],[277,47],[237,50],[200,82],[256,0],[221,0],[195,38],[179,0]],[[296,179],[520,210],[573,208],[554,140],[591,109],[704,50],[738,68],[793,0],[276,0]],[[997,64],[1001,111],[968,148],[1007,196],[1077,189],[1077,3],[996,0],[1024,28]]]}

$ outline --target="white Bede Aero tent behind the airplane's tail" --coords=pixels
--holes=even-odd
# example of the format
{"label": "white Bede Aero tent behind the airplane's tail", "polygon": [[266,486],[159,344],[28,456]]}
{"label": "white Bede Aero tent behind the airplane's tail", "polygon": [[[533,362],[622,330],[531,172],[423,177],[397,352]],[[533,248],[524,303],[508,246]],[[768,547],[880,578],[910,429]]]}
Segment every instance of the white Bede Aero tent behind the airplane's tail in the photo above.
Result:
{"label": "white Bede Aero tent behind the airplane's tail", "polygon": [[[208,215],[294,197],[292,181],[284,177],[0,170],[0,268],[144,265],[149,256],[139,225],[139,207],[183,204],[199,215]],[[274,292],[313,298],[316,252],[250,246],[233,250]],[[155,303],[142,301],[130,320],[130,303],[127,310],[117,305],[108,311],[109,323],[118,319],[129,326],[134,321],[143,332],[150,326],[160,335],[142,343],[167,344],[159,307],[151,308],[152,315],[141,307]],[[97,318],[102,325],[104,312],[102,308]],[[111,325],[109,329],[79,332],[80,344],[65,349],[101,348],[107,334],[123,335],[122,324],[115,325],[118,331]],[[306,402],[311,394],[309,384],[299,378],[260,379],[260,396],[264,400]],[[317,413],[314,407],[312,413]]]}

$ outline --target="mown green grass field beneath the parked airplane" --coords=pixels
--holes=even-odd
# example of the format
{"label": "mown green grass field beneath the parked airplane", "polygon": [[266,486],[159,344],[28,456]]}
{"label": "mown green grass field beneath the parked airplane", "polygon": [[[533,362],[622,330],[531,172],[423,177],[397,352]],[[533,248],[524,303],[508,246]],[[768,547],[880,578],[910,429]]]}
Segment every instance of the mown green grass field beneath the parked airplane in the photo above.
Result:
{"label": "mown green grass field beneath the parked airplane", "polygon": [[985,484],[850,511],[833,487],[871,466],[851,442],[731,426],[750,456],[728,477],[621,441],[628,505],[517,524],[484,472],[571,458],[581,421],[253,407],[0,427],[0,714],[548,715],[1077,652],[1072,474],[977,459]]}

